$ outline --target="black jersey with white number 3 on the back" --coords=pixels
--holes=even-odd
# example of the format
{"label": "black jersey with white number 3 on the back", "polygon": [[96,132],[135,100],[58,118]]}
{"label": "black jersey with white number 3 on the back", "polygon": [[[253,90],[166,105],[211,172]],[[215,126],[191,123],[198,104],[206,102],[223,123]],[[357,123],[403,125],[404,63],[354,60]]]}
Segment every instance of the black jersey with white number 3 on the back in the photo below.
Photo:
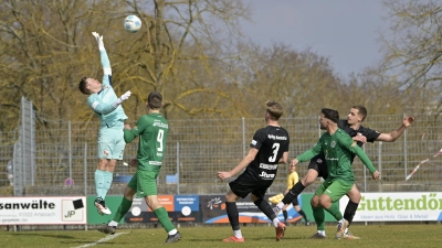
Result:
{"label": "black jersey with white number 3 on the back", "polygon": [[288,132],[282,127],[267,126],[257,130],[250,147],[259,151],[243,174],[271,184],[276,177],[280,159],[288,151]]}

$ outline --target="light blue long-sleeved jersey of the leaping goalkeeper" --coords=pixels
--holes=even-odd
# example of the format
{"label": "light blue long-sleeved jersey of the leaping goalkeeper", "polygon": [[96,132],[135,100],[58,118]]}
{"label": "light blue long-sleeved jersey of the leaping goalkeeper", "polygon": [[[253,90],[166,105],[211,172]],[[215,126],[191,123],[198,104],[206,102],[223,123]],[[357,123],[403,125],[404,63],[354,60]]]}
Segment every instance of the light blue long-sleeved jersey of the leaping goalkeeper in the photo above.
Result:
{"label": "light blue long-sleeved jersey of the leaping goalkeeper", "polygon": [[99,51],[99,58],[102,61],[104,72],[102,90],[92,94],[87,98],[87,105],[98,115],[101,127],[110,128],[115,126],[115,123],[126,120],[127,116],[120,105],[118,105],[117,108],[113,106],[118,97],[112,87],[110,62],[105,50]]}

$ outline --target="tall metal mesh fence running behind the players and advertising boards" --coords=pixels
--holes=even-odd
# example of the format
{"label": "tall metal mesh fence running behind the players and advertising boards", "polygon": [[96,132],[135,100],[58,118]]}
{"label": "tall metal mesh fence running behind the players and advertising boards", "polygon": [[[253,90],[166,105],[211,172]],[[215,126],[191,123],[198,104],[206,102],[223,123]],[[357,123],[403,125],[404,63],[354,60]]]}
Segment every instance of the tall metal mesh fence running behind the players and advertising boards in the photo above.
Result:
{"label": "tall metal mesh fence running behind the players and advertising boards", "polygon": [[[424,185],[420,191],[431,191],[431,185],[440,186],[442,155],[435,154],[442,148],[441,117],[424,114],[413,116],[414,123],[396,142],[365,145],[368,157],[381,172],[378,184],[371,181],[359,159],[355,160],[352,168],[361,191],[373,191],[379,185]],[[391,132],[401,125],[402,119],[403,115],[371,115],[364,126],[379,132]],[[291,159],[312,148],[318,140],[322,130],[317,120],[317,116],[282,118],[280,123],[291,134]],[[0,132],[0,186],[12,185],[14,195],[59,195],[60,188],[63,194],[94,194],[98,122],[36,122],[31,136],[34,137],[34,143],[20,141],[20,137],[25,137],[21,133],[25,127],[20,127],[15,132]],[[263,118],[169,120],[167,155],[158,179],[159,193],[225,193],[227,182],[219,181],[217,172],[235,166],[249,151],[253,133],[264,126]],[[22,151],[27,152],[17,152],[18,143],[27,143],[24,145],[32,148],[22,147]],[[113,188],[125,185],[124,182],[135,172],[123,162],[135,158],[137,140],[126,145],[124,161],[117,164],[114,174]],[[407,175],[427,159],[413,176],[404,182]],[[17,161],[22,161],[22,169],[17,168],[20,166]],[[31,166],[33,170],[30,170]],[[297,166],[301,177],[306,171],[307,163]],[[271,193],[284,190],[286,175],[287,168],[282,165]],[[21,180],[23,177],[29,180]],[[66,186],[72,184],[66,179],[72,179],[74,185]],[[308,187],[306,192],[315,188]],[[118,190],[109,194],[120,193]]]}

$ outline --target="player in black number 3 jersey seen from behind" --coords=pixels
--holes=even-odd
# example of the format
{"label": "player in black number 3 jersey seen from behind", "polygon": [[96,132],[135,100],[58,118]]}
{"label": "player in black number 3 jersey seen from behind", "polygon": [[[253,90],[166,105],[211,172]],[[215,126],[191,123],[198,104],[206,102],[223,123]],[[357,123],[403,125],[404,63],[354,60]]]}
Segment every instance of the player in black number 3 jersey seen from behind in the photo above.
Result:
{"label": "player in black number 3 jersey seen from behind", "polygon": [[290,137],[288,132],[277,122],[283,115],[283,107],[275,101],[267,101],[265,105],[267,126],[255,132],[248,155],[231,171],[217,173],[220,180],[227,180],[245,168],[236,180],[229,183],[230,191],[225,195],[225,208],[233,236],[224,238],[222,240],[224,242],[244,241],[235,202],[249,194],[257,208],[273,222],[276,229],[276,241],[284,236],[285,225],[276,218],[271,205],[264,200],[264,195],[276,177],[278,163],[287,163]]}

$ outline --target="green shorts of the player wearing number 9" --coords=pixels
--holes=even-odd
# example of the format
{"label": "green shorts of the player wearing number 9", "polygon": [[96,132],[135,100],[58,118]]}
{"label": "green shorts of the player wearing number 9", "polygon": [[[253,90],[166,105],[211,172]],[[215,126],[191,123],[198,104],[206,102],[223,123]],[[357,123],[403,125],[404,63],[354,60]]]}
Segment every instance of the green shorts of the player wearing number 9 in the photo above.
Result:
{"label": "green shorts of the player wearing number 9", "polygon": [[127,186],[137,192],[137,197],[157,195],[158,175],[159,172],[137,170]]}

